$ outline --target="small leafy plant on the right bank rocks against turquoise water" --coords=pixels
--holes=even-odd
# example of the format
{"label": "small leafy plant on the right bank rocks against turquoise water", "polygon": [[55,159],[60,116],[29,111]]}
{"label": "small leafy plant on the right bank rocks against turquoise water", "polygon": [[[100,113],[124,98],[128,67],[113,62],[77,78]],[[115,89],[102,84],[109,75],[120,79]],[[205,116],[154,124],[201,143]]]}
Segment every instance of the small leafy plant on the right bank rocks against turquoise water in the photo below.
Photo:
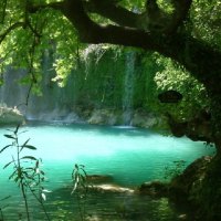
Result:
{"label": "small leafy plant on the right bank rocks against turquoise water", "polygon": [[183,171],[185,167],[186,167],[186,161],[185,160],[176,160],[172,161],[171,166],[166,166],[165,167],[165,179],[172,179],[179,175],[181,175],[181,172]]}

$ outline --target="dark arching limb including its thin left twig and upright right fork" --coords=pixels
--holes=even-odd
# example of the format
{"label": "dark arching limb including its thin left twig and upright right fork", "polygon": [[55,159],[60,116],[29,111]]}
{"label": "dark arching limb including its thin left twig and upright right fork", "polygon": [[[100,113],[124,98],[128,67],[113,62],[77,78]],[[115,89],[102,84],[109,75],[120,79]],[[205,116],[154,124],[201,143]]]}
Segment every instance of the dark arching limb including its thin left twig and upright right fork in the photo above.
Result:
{"label": "dark arching limb including its thin left twig and upright right fork", "polygon": [[[128,28],[129,24],[126,24],[124,19],[122,20],[122,24],[125,25],[101,25],[88,17],[88,11],[86,11],[87,9],[92,11],[92,7],[94,7],[94,10],[96,8],[96,12],[98,14],[105,15],[105,6],[109,6],[110,9],[116,10],[117,17],[114,17],[112,10],[107,10],[107,14],[109,18],[112,17],[113,20],[115,19],[118,24],[120,23],[120,21],[118,21],[120,20],[119,11],[123,9],[117,7],[115,3],[109,3],[107,0],[88,0],[87,2],[85,0],[64,0],[59,4],[48,4],[35,9],[39,10],[46,7],[52,7],[60,10],[77,30],[82,42],[95,44],[119,44],[158,52],[182,64],[200,82],[204,83],[208,88],[212,84],[211,81],[221,82],[221,53],[215,52],[213,49],[192,38],[190,34],[185,35],[183,33],[177,32],[177,28],[182,23],[188,14],[192,0],[173,0],[176,10],[172,14],[171,22],[165,27],[165,32],[157,32],[151,30],[147,32],[137,28]],[[152,8],[149,4],[151,4]],[[156,3],[156,0],[148,0],[146,12],[150,12],[150,19],[151,13],[161,13],[161,10]],[[135,17],[133,12],[128,13],[128,11],[125,10],[124,13],[126,17],[129,14],[128,18],[131,18],[131,23],[136,23],[136,19],[134,19]],[[134,27],[134,24],[130,27]],[[197,59],[199,56],[200,59]],[[210,73],[211,70],[213,70],[213,73]],[[221,93],[221,88],[214,93]]]}

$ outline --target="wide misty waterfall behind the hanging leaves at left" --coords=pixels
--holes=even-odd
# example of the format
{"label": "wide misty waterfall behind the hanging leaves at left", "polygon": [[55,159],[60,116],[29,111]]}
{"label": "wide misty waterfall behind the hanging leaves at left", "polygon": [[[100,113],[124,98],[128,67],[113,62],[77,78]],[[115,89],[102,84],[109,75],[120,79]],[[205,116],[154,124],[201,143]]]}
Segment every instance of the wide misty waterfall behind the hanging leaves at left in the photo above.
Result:
{"label": "wide misty waterfall behind the hanging leaves at left", "polygon": [[[17,107],[27,119],[32,120],[62,120],[76,122],[78,117],[73,113],[74,98],[67,88],[61,88],[51,80],[55,72],[52,70],[52,62],[49,55],[44,55],[42,62],[42,95],[30,94],[28,106],[27,97],[29,85],[19,84],[27,72],[11,67],[3,74],[4,84],[0,86],[0,103],[3,106]],[[73,85],[71,85],[73,92]]]}

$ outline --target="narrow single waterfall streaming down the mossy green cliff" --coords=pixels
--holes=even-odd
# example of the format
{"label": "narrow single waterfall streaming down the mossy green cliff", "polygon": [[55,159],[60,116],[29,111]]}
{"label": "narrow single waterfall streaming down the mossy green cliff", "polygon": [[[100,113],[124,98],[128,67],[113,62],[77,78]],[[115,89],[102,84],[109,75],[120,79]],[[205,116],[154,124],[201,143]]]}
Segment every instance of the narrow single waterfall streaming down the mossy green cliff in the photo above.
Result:
{"label": "narrow single waterfall streaming down the mossy green cliff", "polygon": [[125,125],[130,125],[133,116],[133,97],[134,97],[134,72],[135,72],[135,52],[126,54],[124,95],[123,95],[123,120]]}

